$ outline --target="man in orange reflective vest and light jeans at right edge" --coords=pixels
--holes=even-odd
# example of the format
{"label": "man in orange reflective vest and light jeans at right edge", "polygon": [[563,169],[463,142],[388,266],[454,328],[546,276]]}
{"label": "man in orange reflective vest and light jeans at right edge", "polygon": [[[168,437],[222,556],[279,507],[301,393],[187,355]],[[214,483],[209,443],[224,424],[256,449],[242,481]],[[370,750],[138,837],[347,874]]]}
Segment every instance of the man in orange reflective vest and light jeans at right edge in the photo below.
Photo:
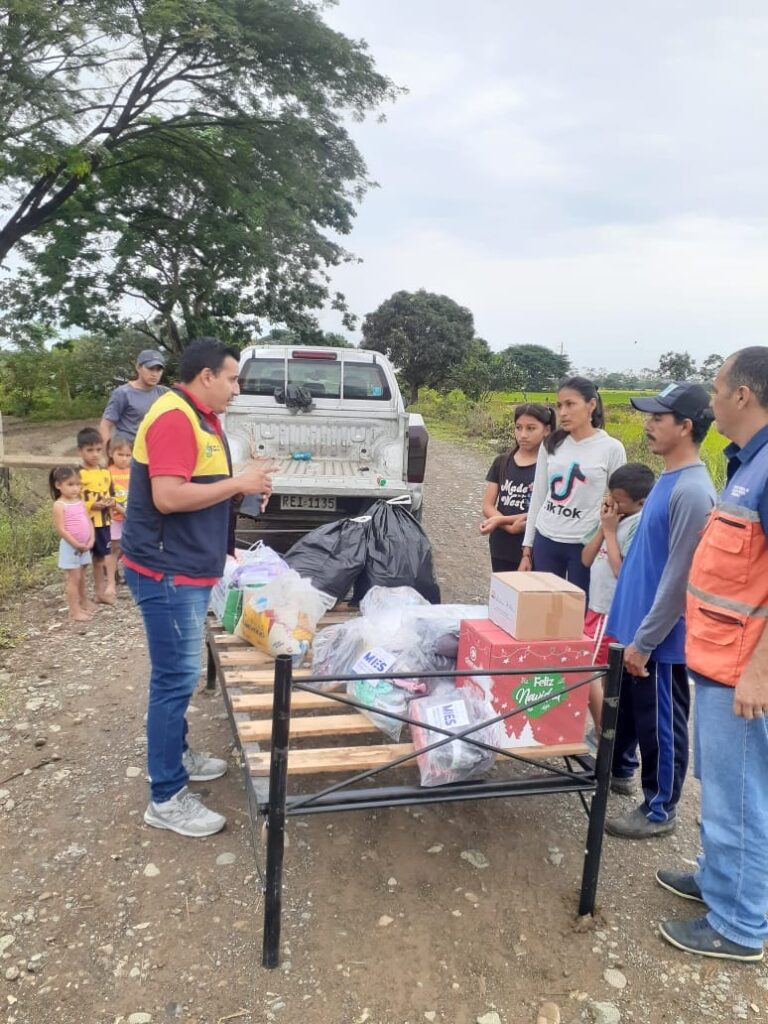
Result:
{"label": "man in orange reflective vest and light jeans at right edge", "polygon": [[659,930],[686,952],[760,961],[768,938],[768,347],[725,360],[712,408],[732,443],[691,566],[685,646],[696,684],[702,855],[695,874],[656,872],[709,912]]}

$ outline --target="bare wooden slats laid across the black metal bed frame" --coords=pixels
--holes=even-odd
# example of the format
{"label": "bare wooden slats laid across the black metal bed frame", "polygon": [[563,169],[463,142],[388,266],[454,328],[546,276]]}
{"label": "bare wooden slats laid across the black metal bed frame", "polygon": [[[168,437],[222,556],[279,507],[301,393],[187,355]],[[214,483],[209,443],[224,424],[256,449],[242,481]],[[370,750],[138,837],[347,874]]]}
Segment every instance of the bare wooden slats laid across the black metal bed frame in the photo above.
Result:
{"label": "bare wooden slats laid across the black metal bed frame", "polygon": [[[348,622],[355,609],[345,606],[329,612],[318,629]],[[269,744],[272,729],[272,687],[274,663],[240,637],[220,627],[209,628],[209,643],[218,668],[218,680],[232,713],[238,742],[254,779],[269,775]],[[310,675],[297,669],[297,681]],[[407,732],[407,730],[403,730]],[[410,742],[385,742],[379,729],[360,712],[323,694],[294,690],[291,700],[291,744],[289,775],[315,775],[365,771],[413,752]],[[522,757],[544,760],[588,753],[584,743],[534,746],[515,750]],[[500,757],[503,758],[502,755]],[[407,763],[415,768],[415,762]]]}

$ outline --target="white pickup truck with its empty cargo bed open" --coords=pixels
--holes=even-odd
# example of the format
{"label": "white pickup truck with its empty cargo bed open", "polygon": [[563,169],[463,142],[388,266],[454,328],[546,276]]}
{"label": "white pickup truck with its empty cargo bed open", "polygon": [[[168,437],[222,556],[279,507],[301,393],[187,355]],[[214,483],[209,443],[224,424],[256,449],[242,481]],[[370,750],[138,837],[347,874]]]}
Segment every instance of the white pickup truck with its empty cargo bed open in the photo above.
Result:
{"label": "white pickup truck with its empty cargo bed open", "polygon": [[241,541],[285,551],[315,526],[401,495],[421,518],[427,431],[379,352],[246,348],[224,428],[236,467],[249,457],[278,466],[264,513],[248,501],[241,509]]}

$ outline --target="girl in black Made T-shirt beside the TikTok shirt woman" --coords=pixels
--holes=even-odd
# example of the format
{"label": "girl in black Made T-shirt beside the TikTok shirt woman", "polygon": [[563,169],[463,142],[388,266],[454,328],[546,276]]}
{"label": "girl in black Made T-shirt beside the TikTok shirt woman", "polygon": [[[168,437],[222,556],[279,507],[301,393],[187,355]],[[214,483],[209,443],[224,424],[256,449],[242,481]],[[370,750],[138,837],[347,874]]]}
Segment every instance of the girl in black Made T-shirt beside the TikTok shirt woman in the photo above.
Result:
{"label": "girl in black Made T-shirt beside the TikTok shirt woman", "polygon": [[520,564],[539,447],[556,423],[550,406],[518,406],[515,443],[510,452],[494,459],[485,477],[480,532],[488,536],[494,572],[516,572]]}

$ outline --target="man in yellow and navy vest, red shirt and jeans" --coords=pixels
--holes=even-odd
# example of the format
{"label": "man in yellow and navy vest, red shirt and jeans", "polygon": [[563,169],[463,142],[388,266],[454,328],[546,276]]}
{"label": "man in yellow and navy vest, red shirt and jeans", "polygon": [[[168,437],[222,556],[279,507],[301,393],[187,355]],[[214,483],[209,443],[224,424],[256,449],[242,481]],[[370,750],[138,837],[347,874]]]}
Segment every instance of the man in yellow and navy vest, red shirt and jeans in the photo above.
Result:
{"label": "man in yellow and navy vest, red shirt and jeans", "polygon": [[184,349],[180,383],[157,399],[136,434],[122,537],[125,582],[144,622],[152,663],[152,796],[144,821],[196,838],[225,824],[186,787],[226,771],[225,761],[186,743],[208,601],[224,569],[232,498],[260,494],[265,500],[271,490],[264,462],[232,477],[219,414],[240,393],[238,370],[237,349],[213,338],[198,338]]}

